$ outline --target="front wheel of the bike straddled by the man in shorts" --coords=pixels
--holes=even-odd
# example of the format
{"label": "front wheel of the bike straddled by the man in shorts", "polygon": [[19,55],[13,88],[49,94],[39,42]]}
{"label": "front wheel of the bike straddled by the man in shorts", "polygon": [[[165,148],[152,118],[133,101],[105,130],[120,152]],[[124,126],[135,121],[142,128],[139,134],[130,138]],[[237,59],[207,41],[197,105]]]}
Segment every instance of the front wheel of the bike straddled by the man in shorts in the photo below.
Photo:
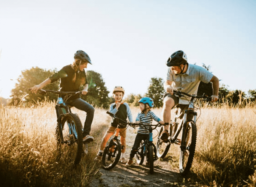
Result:
{"label": "front wheel of the bike straddled by the man in shorts", "polygon": [[[188,174],[191,169],[195,148],[196,148],[196,124],[193,121],[189,121],[185,129],[185,147],[181,147],[179,156],[179,172],[182,175]],[[183,142],[181,142],[182,145]]]}

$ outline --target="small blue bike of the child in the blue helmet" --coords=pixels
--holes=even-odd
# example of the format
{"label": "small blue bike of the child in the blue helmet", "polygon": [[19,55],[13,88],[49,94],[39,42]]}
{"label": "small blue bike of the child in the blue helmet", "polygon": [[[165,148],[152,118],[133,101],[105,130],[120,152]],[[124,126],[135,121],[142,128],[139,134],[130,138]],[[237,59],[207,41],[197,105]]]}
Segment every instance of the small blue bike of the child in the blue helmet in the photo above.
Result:
{"label": "small blue bike of the child in the blue helmet", "polygon": [[160,123],[156,125],[144,125],[144,124],[136,124],[134,126],[143,125],[145,128],[149,129],[149,135],[147,139],[142,140],[139,148],[136,152],[136,161],[139,165],[142,165],[144,162],[144,158],[146,157],[146,164],[149,165],[149,173],[154,173],[154,161],[158,159],[156,146],[153,143],[153,130],[156,129],[158,126],[168,125],[165,123],[161,125]]}

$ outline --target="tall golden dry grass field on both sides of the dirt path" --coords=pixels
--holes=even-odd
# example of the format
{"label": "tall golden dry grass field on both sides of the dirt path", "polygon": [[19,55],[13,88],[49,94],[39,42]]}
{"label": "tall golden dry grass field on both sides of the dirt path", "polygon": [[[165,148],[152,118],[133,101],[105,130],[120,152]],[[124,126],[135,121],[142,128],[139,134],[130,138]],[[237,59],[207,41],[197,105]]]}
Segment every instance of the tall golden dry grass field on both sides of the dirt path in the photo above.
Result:
{"label": "tall golden dry grass field on both sides of the dirt path", "polygon": [[[93,160],[110,124],[96,109],[89,154],[77,168],[56,157],[54,103],[32,107],[0,106],[0,186],[88,186],[99,175]],[[82,121],[85,115],[76,109]],[[161,109],[153,109],[161,117]],[[132,107],[133,117],[139,112]],[[191,173],[201,186],[256,186],[256,107],[202,107]],[[177,157],[178,147],[167,157]],[[175,159],[174,159],[175,160]],[[174,167],[178,162],[170,163]]]}

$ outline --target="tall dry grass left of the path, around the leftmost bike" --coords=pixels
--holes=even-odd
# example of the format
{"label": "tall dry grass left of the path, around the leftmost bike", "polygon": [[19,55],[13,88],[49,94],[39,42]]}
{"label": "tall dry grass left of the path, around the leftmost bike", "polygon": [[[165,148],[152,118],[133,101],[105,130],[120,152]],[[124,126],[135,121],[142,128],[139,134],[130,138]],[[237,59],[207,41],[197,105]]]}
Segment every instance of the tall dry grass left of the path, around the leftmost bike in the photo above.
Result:
{"label": "tall dry grass left of the path, around the leftmost bike", "polygon": [[[96,141],[73,168],[57,160],[54,106],[47,102],[31,108],[0,106],[0,186],[87,186],[98,174],[93,159],[109,125],[106,111],[96,110],[91,131]],[[83,123],[85,115],[79,116]]]}

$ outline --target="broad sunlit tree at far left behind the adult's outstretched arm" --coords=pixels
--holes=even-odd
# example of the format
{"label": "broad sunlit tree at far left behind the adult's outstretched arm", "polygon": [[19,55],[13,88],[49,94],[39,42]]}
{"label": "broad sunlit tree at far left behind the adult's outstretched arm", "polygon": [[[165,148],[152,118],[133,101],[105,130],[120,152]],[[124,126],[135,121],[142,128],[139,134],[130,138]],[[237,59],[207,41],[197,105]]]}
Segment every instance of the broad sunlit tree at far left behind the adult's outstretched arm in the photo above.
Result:
{"label": "broad sunlit tree at far left behind the adult's outstretched arm", "polygon": [[[46,78],[50,77],[56,70],[45,70],[39,67],[32,67],[29,70],[24,70],[18,77],[18,83],[15,84],[15,88],[11,90],[12,103],[25,102],[36,102],[37,100],[45,100],[45,96],[41,94],[32,94],[28,91],[33,85],[40,84]],[[44,89],[59,89],[59,81],[47,85]],[[57,99],[56,94],[47,95],[49,100]]]}

